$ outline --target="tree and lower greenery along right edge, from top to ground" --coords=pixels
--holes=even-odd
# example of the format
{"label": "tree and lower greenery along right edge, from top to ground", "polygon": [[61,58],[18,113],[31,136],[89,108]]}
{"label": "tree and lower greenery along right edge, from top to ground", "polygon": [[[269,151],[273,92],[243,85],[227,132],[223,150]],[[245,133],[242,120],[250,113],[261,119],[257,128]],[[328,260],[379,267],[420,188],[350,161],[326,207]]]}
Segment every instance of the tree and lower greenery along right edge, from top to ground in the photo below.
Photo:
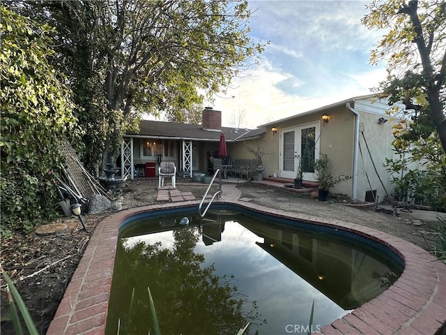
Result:
{"label": "tree and lower greenery along right edge, from top to ground", "polygon": [[[395,156],[387,170],[397,174],[399,200],[446,208],[446,1],[374,1],[362,22],[387,29],[372,64],[387,61],[380,91],[392,107]],[[401,106],[402,103],[402,106]],[[424,171],[409,170],[421,162]]]}

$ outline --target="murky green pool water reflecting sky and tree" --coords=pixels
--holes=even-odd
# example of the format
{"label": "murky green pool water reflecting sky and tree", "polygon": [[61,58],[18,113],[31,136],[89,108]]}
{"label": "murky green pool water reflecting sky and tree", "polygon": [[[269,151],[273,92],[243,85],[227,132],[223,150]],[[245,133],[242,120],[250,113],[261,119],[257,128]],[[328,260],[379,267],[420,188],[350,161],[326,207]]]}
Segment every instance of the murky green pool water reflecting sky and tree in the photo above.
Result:
{"label": "murky green pool water reflecting sky and tree", "polygon": [[[184,216],[184,215],[183,215]],[[290,334],[313,330],[376,297],[401,274],[385,253],[351,239],[240,214],[161,216],[121,232],[106,334]],[[130,311],[130,298],[134,303]],[[129,316],[130,313],[130,316]],[[305,332],[306,333],[306,332]]]}

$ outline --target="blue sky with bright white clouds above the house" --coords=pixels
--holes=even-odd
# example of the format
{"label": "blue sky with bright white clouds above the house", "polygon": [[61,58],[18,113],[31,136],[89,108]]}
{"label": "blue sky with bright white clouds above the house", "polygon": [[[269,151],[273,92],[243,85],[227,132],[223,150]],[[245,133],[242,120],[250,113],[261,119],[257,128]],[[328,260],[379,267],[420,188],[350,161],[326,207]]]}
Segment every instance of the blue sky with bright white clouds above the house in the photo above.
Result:
{"label": "blue sky with bright white clouds above the house", "polygon": [[[266,42],[259,64],[232,80],[205,106],[222,111],[222,126],[256,128],[355,96],[385,80],[385,64],[369,64],[383,31],[360,20],[370,1],[257,1],[249,36]],[[240,117],[241,116],[241,121]]]}

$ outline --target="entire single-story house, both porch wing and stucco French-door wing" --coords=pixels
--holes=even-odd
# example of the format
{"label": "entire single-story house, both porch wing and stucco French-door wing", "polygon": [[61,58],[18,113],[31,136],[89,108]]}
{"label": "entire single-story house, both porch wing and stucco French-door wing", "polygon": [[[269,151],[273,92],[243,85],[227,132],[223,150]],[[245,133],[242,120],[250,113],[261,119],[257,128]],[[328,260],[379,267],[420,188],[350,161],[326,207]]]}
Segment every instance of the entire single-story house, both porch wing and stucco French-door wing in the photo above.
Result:
{"label": "entire single-story house, both porch wing and stucco French-door wing", "polygon": [[155,177],[160,161],[174,161],[180,174],[192,177],[195,171],[207,171],[208,152],[217,151],[223,132],[232,158],[254,158],[246,143],[266,148],[264,176],[293,179],[301,156],[305,156],[303,179],[314,181],[314,164],[308,162],[326,154],[332,160],[334,177],[352,177],[334,186],[332,192],[358,200],[369,200],[371,192],[376,192],[378,199],[384,200],[394,191],[392,177],[383,166],[385,158],[394,155],[394,121],[385,113],[388,109],[385,99],[368,95],[301,112],[254,130],[222,127],[221,112],[210,107],[203,110],[201,125],[142,121],[139,133],[128,133],[123,140],[121,168],[133,178],[138,170],[138,175],[141,170],[147,174],[144,168],[149,163],[153,166],[151,177]]}

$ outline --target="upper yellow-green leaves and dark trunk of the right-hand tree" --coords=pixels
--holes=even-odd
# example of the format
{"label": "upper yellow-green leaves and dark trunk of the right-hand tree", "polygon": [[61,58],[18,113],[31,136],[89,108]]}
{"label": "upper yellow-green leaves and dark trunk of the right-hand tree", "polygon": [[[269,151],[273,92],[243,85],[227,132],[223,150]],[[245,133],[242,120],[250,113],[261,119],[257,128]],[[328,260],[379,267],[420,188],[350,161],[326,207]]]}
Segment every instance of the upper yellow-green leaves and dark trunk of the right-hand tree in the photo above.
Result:
{"label": "upper yellow-green leaves and dark trunk of the right-hand tree", "polygon": [[413,135],[438,134],[444,154],[446,1],[373,1],[368,8],[370,13],[362,23],[387,30],[371,52],[372,64],[387,61],[388,76],[381,90],[390,104],[405,105],[403,112],[410,116]]}

